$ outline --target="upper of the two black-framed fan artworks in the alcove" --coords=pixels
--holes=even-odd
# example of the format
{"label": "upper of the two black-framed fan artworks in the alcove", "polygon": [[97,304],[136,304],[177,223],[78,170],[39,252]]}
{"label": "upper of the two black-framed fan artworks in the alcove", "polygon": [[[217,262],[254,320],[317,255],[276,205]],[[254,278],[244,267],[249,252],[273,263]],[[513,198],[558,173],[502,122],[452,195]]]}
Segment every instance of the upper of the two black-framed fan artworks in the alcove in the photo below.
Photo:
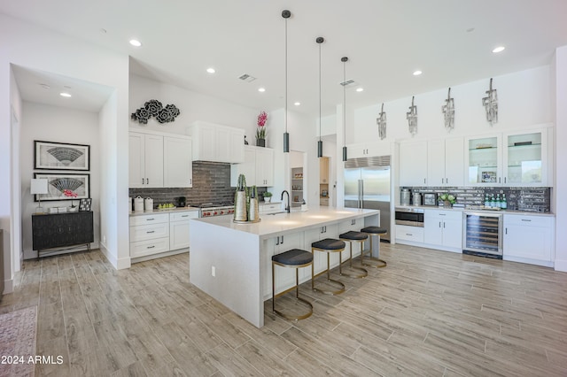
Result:
{"label": "upper of the two black-framed fan artworks in the alcove", "polygon": [[90,170],[90,146],[65,142],[34,142],[34,169]]}

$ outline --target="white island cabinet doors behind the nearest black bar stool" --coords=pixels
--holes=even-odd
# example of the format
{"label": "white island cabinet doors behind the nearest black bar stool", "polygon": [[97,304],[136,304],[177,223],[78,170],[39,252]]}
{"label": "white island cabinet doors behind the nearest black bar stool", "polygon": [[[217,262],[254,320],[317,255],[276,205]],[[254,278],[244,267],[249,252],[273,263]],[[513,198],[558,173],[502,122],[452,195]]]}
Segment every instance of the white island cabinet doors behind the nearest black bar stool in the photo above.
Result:
{"label": "white island cabinet doors behind the nearest black bar stool", "polygon": [[[264,296],[272,295],[272,256],[281,254],[291,249],[303,249],[303,233],[293,233],[291,235],[276,235],[268,239],[267,251],[268,258],[266,258],[266,272],[268,279],[265,279]],[[302,270],[309,270],[310,268],[302,268]],[[301,279],[303,271],[299,271],[299,279]],[[276,293],[282,292],[285,289],[291,288],[295,285],[295,268],[288,268],[276,266]]]}

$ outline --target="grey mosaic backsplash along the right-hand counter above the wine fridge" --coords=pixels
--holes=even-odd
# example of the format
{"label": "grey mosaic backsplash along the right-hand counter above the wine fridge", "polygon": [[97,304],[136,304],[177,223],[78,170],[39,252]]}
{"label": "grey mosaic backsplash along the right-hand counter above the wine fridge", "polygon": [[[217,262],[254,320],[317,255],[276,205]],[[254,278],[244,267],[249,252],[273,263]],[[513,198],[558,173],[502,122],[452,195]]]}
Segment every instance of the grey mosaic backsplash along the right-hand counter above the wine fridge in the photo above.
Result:
{"label": "grey mosaic backsplash along the right-hand counter above the wine fridge", "polygon": [[526,212],[549,212],[551,208],[551,188],[424,188],[424,187],[402,187],[411,192],[435,192],[441,194],[453,194],[457,204],[483,205],[485,195],[506,194],[509,210]]}

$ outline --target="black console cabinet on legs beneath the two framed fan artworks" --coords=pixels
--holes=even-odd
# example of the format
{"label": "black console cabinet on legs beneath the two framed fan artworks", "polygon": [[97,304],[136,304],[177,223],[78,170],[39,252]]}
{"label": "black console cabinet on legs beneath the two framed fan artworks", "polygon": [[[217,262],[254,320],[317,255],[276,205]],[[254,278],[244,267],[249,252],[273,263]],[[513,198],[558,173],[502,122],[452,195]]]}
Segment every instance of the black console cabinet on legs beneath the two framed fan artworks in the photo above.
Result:
{"label": "black console cabinet on legs beneath the two framed fan artworks", "polygon": [[[45,213],[32,215],[33,249],[42,252],[95,241],[92,212]],[[43,255],[44,257],[45,255]]]}

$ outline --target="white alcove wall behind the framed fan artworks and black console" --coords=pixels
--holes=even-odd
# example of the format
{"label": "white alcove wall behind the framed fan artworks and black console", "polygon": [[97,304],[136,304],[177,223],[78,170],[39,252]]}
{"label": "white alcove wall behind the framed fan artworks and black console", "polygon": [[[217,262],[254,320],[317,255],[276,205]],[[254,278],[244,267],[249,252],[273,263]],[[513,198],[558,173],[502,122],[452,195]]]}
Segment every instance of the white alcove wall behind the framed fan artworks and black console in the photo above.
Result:
{"label": "white alcove wall behind the framed fan artworks and black console", "polygon": [[[31,215],[35,212],[37,203],[29,192],[30,180],[35,173],[51,173],[55,170],[34,170],[34,141],[68,142],[87,144],[90,146],[90,171],[63,173],[89,173],[89,196],[94,212],[95,248],[98,247],[99,229],[99,184],[100,184],[100,147],[98,137],[98,115],[95,112],[55,107],[46,104],[35,104],[24,101],[21,118],[21,142],[19,155],[21,158],[19,179],[22,188],[21,224],[23,230],[24,258],[37,258],[37,251],[32,250]],[[79,205],[79,201],[74,201]],[[70,206],[70,201],[44,201],[42,207],[48,211],[50,207]]]}

